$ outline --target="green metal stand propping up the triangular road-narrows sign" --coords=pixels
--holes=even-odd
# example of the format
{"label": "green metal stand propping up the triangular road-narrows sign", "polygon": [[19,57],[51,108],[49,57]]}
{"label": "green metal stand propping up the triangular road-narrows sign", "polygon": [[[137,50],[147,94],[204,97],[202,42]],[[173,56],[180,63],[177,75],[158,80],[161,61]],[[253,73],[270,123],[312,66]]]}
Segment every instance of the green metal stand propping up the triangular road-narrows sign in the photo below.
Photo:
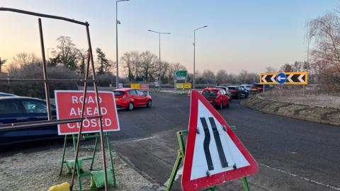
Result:
{"label": "green metal stand propping up the triangular road-narrows sign", "polygon": [[[236,127],[234,126],[231,126],[231,128],[233,131],[236,129]],[[184,155],[186,153],[186,144],[184,144],[183,135],[188,135],[188,130],[176,132],[177,141],[179,141],[179,150],[177,150],[177,158],[174,164],[174,168],[172,168],[169,183],[168,185],[166,185],[166,191],[170,191],[172,186],[174,185],[176,174],[179,171],[179,166],[181,165],[181,161],[183,160]],[[246,177],[242,178],[242,182],[243,182],[244,191],[250,191],[248,180],[246,179]],[[209,188],[206,188],[205,191],[208,191],[208,190],[214,191],[215,188],[216,186],[209,187]]]}

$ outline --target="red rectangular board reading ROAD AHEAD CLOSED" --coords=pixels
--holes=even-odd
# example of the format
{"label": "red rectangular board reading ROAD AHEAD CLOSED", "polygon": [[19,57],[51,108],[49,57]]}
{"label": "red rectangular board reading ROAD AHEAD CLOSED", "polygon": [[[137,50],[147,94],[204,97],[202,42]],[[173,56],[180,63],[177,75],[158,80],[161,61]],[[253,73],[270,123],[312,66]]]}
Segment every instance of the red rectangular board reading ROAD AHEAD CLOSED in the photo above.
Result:
{"label": "red rectangular board reading ROAD AHEAD CLOSED", "polygon": [[[81,117],[81,106],[85,101],[84,117],[98,116],[96,104],[96,93],[87,91],[86,99],[84,91],[55,91],[55,104],[57,107],[57,119],[72,119]],[[115,96],[113,92],[99,91],[99,103],[101,106],[101,119],[103,131],[119,131],[117,109],[115,107]],[[81,122],[73,122],[58,125],[58,134],[78,134]],[[93,133],[100,131],[99,118],[83,120],[82,133]]]}

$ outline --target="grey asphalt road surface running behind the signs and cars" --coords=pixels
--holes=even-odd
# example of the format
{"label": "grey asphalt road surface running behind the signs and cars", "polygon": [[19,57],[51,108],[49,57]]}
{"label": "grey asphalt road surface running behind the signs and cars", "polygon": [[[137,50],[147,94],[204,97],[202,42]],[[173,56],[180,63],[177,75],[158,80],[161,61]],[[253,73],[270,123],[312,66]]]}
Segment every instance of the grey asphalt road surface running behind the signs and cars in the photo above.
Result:
{"label": "grey asphalt road surface running behind the signs and cars", "polygon": [[[132,168],[155,185],[169,179],[179,148],[176,132],[188,128],[190,97],[152,93],[152,108],[119,110],[120,132],[111,135],[113,149]],[[340,127],[264,114],[243,108],[233,100],[218,110],[259,163],[249,177],[254,190],[340,190]],[[61,141],[35,142],[2,150],[18,152],[60,148]],[[181,176],[173,190],[181,190]],[[242,190],[234,180],[217,190]]]}

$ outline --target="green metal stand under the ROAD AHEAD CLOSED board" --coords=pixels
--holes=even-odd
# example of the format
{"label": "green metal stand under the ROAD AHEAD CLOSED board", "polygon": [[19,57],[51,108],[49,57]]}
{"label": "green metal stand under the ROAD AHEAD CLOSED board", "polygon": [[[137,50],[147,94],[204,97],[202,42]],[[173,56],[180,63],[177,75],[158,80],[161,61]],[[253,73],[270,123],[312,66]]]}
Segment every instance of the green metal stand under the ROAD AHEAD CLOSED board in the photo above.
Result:
{"label": "green metal stand under the ROAD AHEAD CLOSED board", "polygon": [[[112,155],[112,149],[111,149],[111,142],[110,142],[110,137],[108,135],[108,132],[105,132],[106,137],[106,141],[108,144],[108,152],[110,155],[110,161],[111,161],[111,171],[110,173],[112,174],[112,180],[113,180],[113,187],[116,187],[116,180],[115,180],[115,169],[113,166],[113,155]],[[96,157],[96,150],[97,150],[97,146],[98,146],[98,138],[100,138],[100,134],[96,133],[96,134],[91,134],[91,135],[81,135],[81,140],[86,140],[86,139],[96,139],[95,144],[94,144],[94,153],[92,154],[92,156],[90,157],[86,157],[86,158],[79,158],[78,159],[78,164],[77,164],[77,175],[78,175],[78,180],[79,180],[79,190],[82,190],[82,183],[81,183],[81,178],[85,177],[85,176],[92,176],[95,175],[96,173],[100,172],[100,171],[94,171],[94,159]],[[66,134],[64,137],[64,147],[62,149],[62,163],[61,163],[61,167],[60,167],[60,175],[62,175],[62,168],[64,166],[64,164],[67,164],[67,168],[69,168],[69,166],[73,166],[74,164],[74,160],[67,160],[66,159],[66,147],[67,147],[67,140],[72,139],[73,141],[73,146],[74,146],[74,152],[76,151],[76,146],[77,146],[77,135],[76,134]],[[84,168],[82,166],[82,162],[83,161],[90,161],[91,160],[91,166],[89,168],[90,172],[84,172]],[[68,173],[72,173],[73,168],[69,168]],[[108,184],[110,185],[111,183],[111,176],[108,177]],[[93,181],[94,178],[91,177],[91,189],[94,188],[99,188],[102,187],[102,185],[96,185],[96,181]],[[101,179],[101,178],[98,178]],[[103,180],[99,180],[101,182],[103,182]]]}

